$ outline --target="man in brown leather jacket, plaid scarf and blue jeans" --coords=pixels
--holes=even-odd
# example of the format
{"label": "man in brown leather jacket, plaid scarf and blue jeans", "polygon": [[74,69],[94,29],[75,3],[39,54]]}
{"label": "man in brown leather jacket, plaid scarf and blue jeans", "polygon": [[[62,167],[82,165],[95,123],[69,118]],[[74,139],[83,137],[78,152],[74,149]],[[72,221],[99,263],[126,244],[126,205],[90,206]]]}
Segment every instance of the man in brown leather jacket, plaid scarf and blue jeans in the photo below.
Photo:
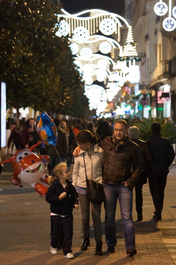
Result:
{"label": "man in brown leather jacket, plaid scarf and blue jeans", "polygon": [[114,252],[117,244],[115,213],[119,199],[127,256],[133,256],[136,254],[132,219],[133,188],[142,165],[139,146],[129,140],[127,132],[127,122],[118,120],[114,123],[114,134],[101,141],[104,150],[105,237],[108,252]]}

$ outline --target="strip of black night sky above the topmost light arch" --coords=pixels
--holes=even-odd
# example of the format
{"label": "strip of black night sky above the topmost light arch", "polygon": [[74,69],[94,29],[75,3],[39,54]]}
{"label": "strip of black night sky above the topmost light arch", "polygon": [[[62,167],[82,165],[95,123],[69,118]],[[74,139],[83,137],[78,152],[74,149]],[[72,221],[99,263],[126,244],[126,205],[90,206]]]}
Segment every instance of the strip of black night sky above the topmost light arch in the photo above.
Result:
{"label": "strip of black night sky above the topmost light arch", "polygon": [[104,9],[123,15],[124,0],[60,0],[63,8],[69,13],[76,13],[84,9]]}

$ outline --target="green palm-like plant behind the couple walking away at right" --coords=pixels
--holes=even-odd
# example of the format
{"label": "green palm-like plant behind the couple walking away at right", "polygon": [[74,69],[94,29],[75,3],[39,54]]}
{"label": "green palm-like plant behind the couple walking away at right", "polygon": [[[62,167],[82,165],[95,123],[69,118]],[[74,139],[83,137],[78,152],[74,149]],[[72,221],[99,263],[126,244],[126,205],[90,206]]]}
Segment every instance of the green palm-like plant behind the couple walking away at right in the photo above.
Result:
{"label": "green palm-like plant behind the couple walking away at right", "polygon": [[[161,136],[165,138],[176,138],[176,128],[173,126],[170,126],[169,123],[163,124],[164,119],[155,118],[155,122],[160,122],[162,125],[161,127]],[[139,139],[143,141],[147,141],[150,136],[152,135],[151,131],[151,125],[153,123],[153,118],[150,117],[150,119],[143,119],[142,121],[136,122],[135,126],[137,126],[140,130]]]}

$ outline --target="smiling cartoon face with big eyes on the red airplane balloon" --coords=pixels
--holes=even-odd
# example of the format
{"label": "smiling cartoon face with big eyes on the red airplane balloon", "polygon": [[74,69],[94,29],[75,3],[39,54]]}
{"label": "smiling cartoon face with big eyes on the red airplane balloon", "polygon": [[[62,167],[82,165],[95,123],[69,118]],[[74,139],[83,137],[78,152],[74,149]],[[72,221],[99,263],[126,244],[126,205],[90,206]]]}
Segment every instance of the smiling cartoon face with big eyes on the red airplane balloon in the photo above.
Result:
{"label": "smiling cartoon face with big eyes on the red airplane balloon", "polygon": [[15,175],[23,183],[31,184],[37,182],[45,173],[45,165],[41,158],[28,149],[16,152],[11,162]]}

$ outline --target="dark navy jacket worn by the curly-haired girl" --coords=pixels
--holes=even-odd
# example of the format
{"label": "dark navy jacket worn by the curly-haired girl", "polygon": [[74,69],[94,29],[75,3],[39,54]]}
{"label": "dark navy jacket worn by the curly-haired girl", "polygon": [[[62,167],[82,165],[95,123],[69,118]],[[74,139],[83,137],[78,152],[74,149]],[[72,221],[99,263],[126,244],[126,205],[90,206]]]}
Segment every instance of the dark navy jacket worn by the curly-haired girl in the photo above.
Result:
{"label": "dark navy jacket worn by the curly-haired girl", "polygon": [[[50,203],[50,210],[52,213],[59,215],[69,215],[72,213],[75,204],[78,204],[78,194],[72,181],[67,180],[67,191],[63,188],[62,184],[56,179],[48,188],[46,193],[46,201]],[[59,196],[62,192],[66,192],[67,196],[59,201]],[[76,196],[76,198],[75,198]]]}

